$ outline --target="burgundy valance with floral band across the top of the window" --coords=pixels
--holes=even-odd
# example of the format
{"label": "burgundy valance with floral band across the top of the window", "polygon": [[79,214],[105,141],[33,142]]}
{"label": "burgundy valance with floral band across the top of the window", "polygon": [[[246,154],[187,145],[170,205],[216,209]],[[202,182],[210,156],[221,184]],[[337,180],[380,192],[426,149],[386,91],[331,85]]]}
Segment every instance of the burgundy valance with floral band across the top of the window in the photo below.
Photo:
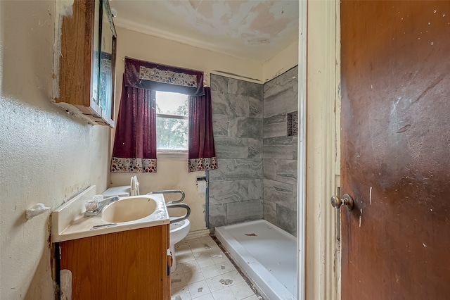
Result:
{"label": "burgundy valance with floral band across the top of the window", "polygon": [[203,72],[125,57],[127,87],[203,96]]}

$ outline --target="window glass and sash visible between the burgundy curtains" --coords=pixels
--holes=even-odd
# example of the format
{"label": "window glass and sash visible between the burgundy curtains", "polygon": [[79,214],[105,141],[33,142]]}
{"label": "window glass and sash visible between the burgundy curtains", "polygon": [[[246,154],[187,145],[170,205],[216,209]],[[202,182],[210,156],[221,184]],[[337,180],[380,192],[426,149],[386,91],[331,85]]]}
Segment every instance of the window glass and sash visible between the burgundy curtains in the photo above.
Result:
{"label": "window glass and sash visible between the burgundy curtains", "polygon": [[188,151],[188,95],[156,92],[156,146],[158,153]]}

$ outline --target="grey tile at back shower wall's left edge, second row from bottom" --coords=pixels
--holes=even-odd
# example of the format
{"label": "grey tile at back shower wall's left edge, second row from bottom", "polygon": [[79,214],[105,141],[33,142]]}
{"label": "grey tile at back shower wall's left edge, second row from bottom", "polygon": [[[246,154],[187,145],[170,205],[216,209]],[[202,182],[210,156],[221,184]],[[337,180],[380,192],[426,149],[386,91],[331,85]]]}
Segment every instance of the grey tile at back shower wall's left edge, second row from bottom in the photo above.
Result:
{"label": "grey tile at back shower wall's left edge, second row from bottom", "polygon": [[245,201],[249,198],[250,180],[210,182],[210,205]]}

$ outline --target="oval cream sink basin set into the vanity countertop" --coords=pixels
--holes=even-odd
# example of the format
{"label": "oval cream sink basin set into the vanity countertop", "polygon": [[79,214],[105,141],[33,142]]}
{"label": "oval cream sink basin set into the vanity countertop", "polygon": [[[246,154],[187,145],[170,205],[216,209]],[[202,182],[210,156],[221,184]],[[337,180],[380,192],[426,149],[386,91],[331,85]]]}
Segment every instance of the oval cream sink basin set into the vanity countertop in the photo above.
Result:
{"label": "oval cream sink basin set into the vanity countertop", "polygon": [[109,223],[122,223],[148,217],[156,210],[156,201],[148,196],[134,196],[109,204],[101,218]]}

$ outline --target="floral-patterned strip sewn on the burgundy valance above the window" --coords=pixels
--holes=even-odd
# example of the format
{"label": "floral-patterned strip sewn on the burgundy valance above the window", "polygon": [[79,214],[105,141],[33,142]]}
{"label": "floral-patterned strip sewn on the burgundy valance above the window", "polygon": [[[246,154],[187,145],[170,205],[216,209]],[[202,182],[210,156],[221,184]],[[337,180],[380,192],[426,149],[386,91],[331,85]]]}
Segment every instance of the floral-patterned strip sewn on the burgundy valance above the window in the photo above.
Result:
{"label": "floral-patterned strip sewn on the burgundy valance above the window", "polygon": [[197,87],[197,76],[172,71],[158,70],[157,68],[139,68],[139,79],[155,82],[181,85],[183,87]]}

